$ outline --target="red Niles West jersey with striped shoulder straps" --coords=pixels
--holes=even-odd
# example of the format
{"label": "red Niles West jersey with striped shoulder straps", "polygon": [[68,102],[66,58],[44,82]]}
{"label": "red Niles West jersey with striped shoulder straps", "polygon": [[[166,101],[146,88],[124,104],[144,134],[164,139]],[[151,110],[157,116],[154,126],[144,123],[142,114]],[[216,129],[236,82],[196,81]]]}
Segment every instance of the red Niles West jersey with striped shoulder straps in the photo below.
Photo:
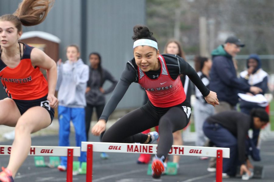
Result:
{"label": "red Niles West jersey with striped shoulder straps", "polygon": [[138,67],[139,84],[146,90],[150,102],[156,107],[172,107],[184,102],[186,95],[180,75],[172,79],[163,56],[159,55],[161,72],[158,78],[150,79]]}

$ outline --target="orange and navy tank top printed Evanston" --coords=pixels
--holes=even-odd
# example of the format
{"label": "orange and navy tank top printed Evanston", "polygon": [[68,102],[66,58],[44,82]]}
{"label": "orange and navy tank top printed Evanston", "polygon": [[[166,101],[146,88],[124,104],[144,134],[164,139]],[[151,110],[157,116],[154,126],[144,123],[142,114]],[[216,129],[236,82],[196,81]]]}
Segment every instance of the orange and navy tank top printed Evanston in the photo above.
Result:
{"label": "orange and navy tank top printed Evanston", "polygon": [[[9,68],[0,59],[0,79],[9,98],[34,100],[47,95],[48,84],[40,68],[31,64],[30,53],[33,47],[24,44],[21,61],[15,68]],[[1,58],[1,53],[0,53]]]}

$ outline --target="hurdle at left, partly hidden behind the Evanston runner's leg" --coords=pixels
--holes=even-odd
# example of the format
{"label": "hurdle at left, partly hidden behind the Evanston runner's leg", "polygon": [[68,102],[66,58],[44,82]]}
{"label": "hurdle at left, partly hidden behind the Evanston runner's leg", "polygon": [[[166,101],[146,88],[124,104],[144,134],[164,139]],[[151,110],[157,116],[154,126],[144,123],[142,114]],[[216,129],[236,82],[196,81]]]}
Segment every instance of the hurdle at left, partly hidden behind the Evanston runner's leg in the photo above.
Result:
{"label": "hurdle at left, partly hidden behind the Evanston runner's leg", "polygon": [[[9,145],[0,145],[0,155],[10,155]],[[72,182],[73,157],[80,157],[80,147],[30,146],[29,156],[67,156],[67,182]]]}

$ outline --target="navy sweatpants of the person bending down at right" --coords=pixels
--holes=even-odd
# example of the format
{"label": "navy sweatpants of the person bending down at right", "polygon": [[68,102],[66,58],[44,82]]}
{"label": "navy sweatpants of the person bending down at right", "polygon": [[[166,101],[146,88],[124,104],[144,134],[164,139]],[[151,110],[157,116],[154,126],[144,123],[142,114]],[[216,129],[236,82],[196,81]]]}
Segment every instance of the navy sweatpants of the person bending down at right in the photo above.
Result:
{"label": "navy sweatpants of the person bending down at right", "polygon": [[210,124],[205,121],[203,131],[216,147],[230,148],[230,158],[223,158],[223,173],[235,176],[239,164],[237,138],[218,123]]}

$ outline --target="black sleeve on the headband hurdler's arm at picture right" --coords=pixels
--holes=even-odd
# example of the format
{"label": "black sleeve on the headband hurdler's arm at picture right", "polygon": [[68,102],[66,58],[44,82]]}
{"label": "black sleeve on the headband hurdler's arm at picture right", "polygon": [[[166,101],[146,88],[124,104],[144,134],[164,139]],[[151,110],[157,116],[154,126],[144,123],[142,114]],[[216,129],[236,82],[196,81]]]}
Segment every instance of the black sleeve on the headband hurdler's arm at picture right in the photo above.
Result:
{"label": "black sleeve on the headband hurdler's arm at picture right", "polygon": [[208,96],[210,90],[202,83],[202,80],[195,72],[195,70],[186,62],[183,58],[176,56],[179,62],[180,74],[187,75],[188,78],[194,83],[195,86],[200,90],[204,97]]}

